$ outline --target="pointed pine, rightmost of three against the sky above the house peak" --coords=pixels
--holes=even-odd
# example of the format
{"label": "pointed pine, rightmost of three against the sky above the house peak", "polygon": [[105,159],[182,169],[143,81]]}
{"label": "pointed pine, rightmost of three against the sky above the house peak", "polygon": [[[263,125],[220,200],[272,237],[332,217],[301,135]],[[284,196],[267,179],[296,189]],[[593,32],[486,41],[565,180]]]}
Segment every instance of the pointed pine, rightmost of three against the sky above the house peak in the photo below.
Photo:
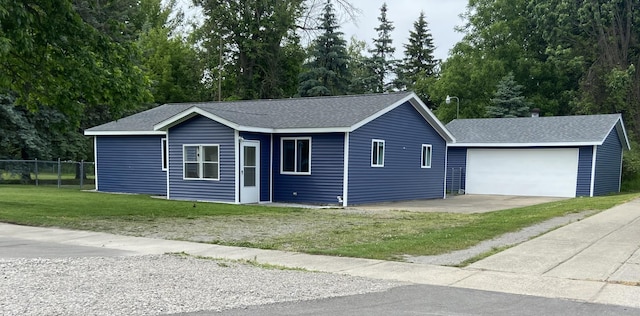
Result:
{"label": "pointed pine, rightmost of three against the sky above the house peak", "polygon": [[397,69],[397,84],[400,89],[411,89],[419,77],[435,77],[438,62],[433,56],[433,36],[425,20],[424,11],[413,23],[409,32],[409,43],[404,44],[404,59]]}

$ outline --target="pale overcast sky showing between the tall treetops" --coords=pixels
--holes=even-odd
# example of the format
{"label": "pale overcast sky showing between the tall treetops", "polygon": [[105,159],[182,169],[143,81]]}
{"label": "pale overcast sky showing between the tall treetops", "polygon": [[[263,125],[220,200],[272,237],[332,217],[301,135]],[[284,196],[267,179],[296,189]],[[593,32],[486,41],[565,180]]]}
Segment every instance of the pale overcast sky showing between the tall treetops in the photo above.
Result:
{"label": "pale overcast sky showing between the tall treetops", "polygon": [[[357,25],[345,24],[342,32],[349,41],[352,35],[359,40],[364,40],[367,45],[372,45],[372,39],[378,34],[374,28],[380,25],[380,7],[384,0],[351,0],[351,3],[360,9]],[[433,35],[436,46],[434,53],[437,59],[446,59],[449,50],[462,39],[462,34],[454,31],[455,26],[463,25],[460,14],[464,13],[467,0],[388,0],[387,19],[393,23],[395,30],[392,33],[393,45],[396,46],[395,58],[402,58],[404,54],[403,44],[408,42],[409,31],[413,30],[413,23],[418,20],[420,11],[424,11],[425,17]]]}

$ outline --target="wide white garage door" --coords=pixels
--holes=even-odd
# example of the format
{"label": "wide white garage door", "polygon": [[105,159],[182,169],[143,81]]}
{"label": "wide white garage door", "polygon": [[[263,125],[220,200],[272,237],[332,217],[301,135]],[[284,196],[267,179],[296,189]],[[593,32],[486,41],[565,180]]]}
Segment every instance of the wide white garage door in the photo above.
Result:
{"label": "wide white garage door", "polygon": [[578,149],[467,150],[466,192],[576,196]]}

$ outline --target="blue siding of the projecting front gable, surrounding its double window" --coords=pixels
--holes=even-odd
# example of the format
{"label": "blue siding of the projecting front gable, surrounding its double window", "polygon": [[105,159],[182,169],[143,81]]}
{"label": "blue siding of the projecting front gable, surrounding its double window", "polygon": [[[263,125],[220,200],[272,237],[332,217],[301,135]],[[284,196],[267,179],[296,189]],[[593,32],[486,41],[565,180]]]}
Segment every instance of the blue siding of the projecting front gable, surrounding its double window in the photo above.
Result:
{"label": "blue siding of the projecting front gable, surrounding its double window", "polygon": [[[233,129],[196,116],[169,129],[169,198],[235,202]],[[183,180],[182,145],[220,145],[220,180]]]}

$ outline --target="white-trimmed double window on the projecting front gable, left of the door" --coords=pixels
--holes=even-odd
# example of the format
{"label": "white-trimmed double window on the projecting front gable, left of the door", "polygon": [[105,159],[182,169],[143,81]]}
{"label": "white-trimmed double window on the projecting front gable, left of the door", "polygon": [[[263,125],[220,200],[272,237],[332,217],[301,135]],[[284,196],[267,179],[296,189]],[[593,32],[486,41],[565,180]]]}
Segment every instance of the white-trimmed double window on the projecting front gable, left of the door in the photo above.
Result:
{"label": "white-trimmed double window on the projecting front gable, left of the door", "polygon": [[183,145],[184,179],[220,180],[220,145]]}

